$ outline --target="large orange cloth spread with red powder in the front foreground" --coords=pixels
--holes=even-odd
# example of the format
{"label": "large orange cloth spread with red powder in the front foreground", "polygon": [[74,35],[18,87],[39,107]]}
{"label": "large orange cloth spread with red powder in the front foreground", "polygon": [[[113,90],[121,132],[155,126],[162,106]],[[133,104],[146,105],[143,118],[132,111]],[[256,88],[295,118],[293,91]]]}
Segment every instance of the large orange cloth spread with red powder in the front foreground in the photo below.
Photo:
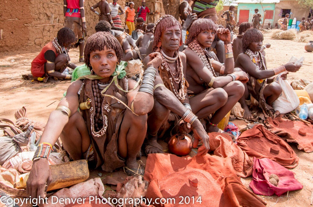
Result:
{"label": "large orange cloth spread with red powder in the front foreground", "polygon": [[[191,174],[191,173],[194,174]],[[190,176],[196,175],[198,187],[188,183]],[[215,155],[178,157],[172,154],[149,154],[146,161],[144,180],[150,181],[146,198],[186,197],[184,192],[193,193],[194,202],[154,206],[264,206],[254,193],[247,190],[233,170],[231,158]],[[165,182],[166,181],[166,182]],[[211,185],[208,185],[211,184]],[[219,185],[219,186],[218,186]],[[173,188],[174,186],[175,188]],[[203,189],[210,191],[203,194]],[[202,195],[202,203],[197,202]],[[191,197],[190,197],[191,198]],[[178,199],[179,200],[179,199]],[[181,199],[180,199],[181,200]],[[179,201],[180,201],[179,200]],[[192,201],[192,199],[191,199]]]}

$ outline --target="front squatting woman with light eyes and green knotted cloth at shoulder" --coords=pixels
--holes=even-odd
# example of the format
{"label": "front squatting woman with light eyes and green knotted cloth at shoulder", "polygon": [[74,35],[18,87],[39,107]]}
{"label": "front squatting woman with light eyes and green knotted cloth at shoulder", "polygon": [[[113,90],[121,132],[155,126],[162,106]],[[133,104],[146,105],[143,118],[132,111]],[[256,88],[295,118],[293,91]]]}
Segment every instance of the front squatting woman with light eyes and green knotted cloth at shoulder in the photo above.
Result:
{"label": "front squatting woman with light eyes and green knotted cloth at shoulder", "polygon": [[[84,55],[91,76],[74,81],[49,116],[27,181],[27,192],[32,198],[44,198],[45,186],[51,181],[48,158],[59,136],[73,160],[94,160],[95,167],[110,172],[126,165],[128,175],[144,173],[136,155],[145,139],[147,113],[153,107],[153,67],[162,63],[160,54],[150,55],[151,67],[144,73],[139,88],[117,66],[123,50],[110,33],[91,35]],[[91,101],[91,108],[77,111],[85,101]]]}

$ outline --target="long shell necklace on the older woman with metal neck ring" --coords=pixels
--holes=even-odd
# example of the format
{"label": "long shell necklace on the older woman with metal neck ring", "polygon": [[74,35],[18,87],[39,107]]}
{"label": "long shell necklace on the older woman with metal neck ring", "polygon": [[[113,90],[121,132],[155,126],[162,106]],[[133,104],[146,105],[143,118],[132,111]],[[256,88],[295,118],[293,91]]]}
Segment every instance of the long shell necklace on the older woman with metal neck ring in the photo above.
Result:
{"label": "long shell necklace on the older woman with metal neck ring", "polygon": [[[170,75],[170,82],[171,82],[171,87],[172,91],[175,94],[175,96],[179,100],[185,100],[185,78],[184,78],[184,73],[183,73],[183,65],[182,65],[182,59],[179,56],[179,53],[175,51],[176,57],[169,57],[167,55],[164,56],[164,52],[162,49],[158,48],[156,52],[161,52],[161,57],[162,57],[162,64],[161,64],[161,69],[166,70],[167,73]],[[171,61],[170,63],[173,63],[172,61],[175,59],[174,62],[176,62],[176,73],[174,74],[172,72],[171,67],[168,65],[168,61]],[[180,85],[180,89],[177,89],[176,84]]]}

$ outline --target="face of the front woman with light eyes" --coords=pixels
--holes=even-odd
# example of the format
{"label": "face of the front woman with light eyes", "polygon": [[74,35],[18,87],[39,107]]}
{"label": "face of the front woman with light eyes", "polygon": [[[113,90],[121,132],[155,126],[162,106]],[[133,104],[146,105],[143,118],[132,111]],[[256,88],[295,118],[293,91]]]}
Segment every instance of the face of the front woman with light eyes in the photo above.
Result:
{"label": "face of the front woman with light eyes", "polygon": [[90,65],[95,74],[103,77],[102,82],[110,80],[110,76],[115,71],[116,63],[117,56],[112,48],[105,46],[101,51],[90,52]]}

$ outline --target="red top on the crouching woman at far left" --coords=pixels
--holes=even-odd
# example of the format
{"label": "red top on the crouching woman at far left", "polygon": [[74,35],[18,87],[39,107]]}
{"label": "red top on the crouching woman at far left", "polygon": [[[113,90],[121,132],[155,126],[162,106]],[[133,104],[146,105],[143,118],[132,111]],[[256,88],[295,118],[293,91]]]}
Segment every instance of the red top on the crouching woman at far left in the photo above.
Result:
{"label": "red top on the crouching woman at far left", "polygon": [[40,53],[35,57],[35,59],[32,61],[32,66],[30,68],[30,71],[32,72],[32,75],[34,77],[42,77],[44,76],[44,63],[47,62],[47,60],[44,58],[44,53],[47,52],[48,50],[52,50],[55,53],[55,57],[59,55],[57,53],[56,48],[53,46],[52,41],[46,44]]}

